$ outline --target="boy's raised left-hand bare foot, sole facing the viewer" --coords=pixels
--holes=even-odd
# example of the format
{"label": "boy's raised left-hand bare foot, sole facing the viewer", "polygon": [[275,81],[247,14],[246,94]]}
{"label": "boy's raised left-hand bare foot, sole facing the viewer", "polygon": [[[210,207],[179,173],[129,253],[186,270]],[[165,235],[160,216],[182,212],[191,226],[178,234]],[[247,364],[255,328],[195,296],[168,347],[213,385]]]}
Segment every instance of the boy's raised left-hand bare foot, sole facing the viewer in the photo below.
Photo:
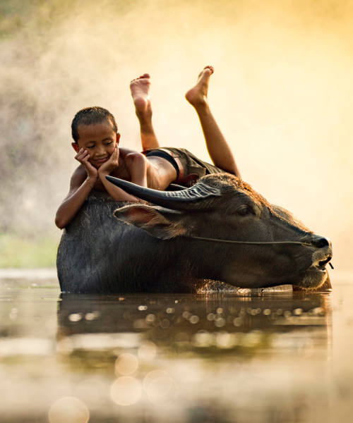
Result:
{"label": "boy's raised left-hand bare foot, sole facing the viewer", "polygon": [[133,104],[135,104],[136,116],[139,120],[152,117],[152,107],[150,102],[150,75],[144,73],[139,78],[130,82]]}

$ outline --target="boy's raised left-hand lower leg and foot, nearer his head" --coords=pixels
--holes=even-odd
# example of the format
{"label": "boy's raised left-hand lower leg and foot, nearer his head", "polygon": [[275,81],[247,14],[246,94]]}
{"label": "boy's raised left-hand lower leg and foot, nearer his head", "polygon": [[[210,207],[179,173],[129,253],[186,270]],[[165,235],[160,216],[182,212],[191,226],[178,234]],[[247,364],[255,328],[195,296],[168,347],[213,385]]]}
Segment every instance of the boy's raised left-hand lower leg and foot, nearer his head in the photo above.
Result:
{"label": "boy's raised left-hand lower leg and foot, nearer his head", "polygon": [[139,78],[130,82],[133,104],[135,104],[136,116],[140,122],[141,144],[143,150],[160,147],[160,143],[157,140],[152,125],[150,84],[151,80],[148,73],[144,73]]}

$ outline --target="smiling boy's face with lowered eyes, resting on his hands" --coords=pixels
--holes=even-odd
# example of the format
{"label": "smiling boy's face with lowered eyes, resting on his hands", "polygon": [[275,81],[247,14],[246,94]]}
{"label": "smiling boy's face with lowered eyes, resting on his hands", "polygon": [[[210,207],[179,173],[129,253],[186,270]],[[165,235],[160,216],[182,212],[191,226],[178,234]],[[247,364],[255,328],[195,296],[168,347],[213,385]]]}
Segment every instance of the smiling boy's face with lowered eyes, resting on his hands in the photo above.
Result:
{"label": "smiling boy's face with lowered eyes, resting on his hands", "polygon": [[[116,134],[109,121],[94,123],[92,125],[78,125],[77,142],[73,142],[73,149],[78,152],[81,148],[88,151],[88,160],[95,168],[109,160],[114,152],[114,147],[119,144],[120,134]],[[119,153],[119,150],[118,150]]]}

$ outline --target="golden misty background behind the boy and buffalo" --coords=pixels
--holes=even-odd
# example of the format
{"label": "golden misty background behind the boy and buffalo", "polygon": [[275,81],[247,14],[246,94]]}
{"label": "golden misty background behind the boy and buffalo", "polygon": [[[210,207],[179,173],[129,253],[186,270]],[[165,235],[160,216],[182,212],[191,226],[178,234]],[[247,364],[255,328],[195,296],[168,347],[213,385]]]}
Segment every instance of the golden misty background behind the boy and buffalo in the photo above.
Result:
{"label": "golden misty background behind the boy and buffalo", "polygon": [[352,20],[348,0],[2,1],[0,232],[59,237],[79,109],[109,109],[140,150],[128,83],[142,73],[160,144],[209,161],[184,93],[211,64],[210,106],[244,180],[351,269]]}

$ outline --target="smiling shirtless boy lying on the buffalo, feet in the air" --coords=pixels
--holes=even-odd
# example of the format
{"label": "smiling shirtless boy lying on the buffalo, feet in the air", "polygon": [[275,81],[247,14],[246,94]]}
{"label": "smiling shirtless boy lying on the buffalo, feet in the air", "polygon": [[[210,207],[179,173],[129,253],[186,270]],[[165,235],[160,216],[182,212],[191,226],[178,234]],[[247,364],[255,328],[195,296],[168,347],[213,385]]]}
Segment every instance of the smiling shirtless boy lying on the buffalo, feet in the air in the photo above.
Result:
{"label": "smiling shirtless boy lying on the buffalo, feet in the air", "polygon": [[105,178],[107,175],[157,190],[164,190],[174,181],[190,185],[205,173],[227,171],[240,177],[232,151],[208,106],[208,83],[212,74],[213,67],[206,66],[198,75],[196,85],[186,92],[186,99],[196,109],[215,166],[185,149],[160,148],[152,125],[150,76],[145,73],[130,84],[143,154],[118,147],[120,134],[109,111],[90,107],[80,110],[73,118],[72,146],[80,166],[74,171],[68,195],[56,212],[56,226],[64,228],[73,219],[93,188],[107,191],[116,201],[136,201],[136,197],[110,183]]}

